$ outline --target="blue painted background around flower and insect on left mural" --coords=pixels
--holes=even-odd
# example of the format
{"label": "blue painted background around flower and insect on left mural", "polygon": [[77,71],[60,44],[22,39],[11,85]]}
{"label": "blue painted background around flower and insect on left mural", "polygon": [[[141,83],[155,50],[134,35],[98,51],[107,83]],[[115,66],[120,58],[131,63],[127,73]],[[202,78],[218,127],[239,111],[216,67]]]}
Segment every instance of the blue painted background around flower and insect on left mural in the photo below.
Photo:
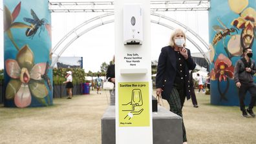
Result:
{"label": "blue painted background around flower and insect on left mural", "polygon": [[[28,17],[30,19],[32,18],[32,15],[30,14],[30,10],[34,10],[37,17],[39,19],[47,19],[47,24],[51,24],[50,19],[50,12],[48,11],[48,1],[46,0],[4,0],[3,5],[8,7],[10,12],[12,13],[14,8],[17,6],[17,4],[21,2],[21,11],[14,22],[21,22],[25,23],[27,25],[30,25],[30,23],[27,23],[23,20],[23,17]],[[50,36],[48,35],[47,28],[45,27],[45,30],[41,31],[40,36],[40,28],[37,30],[35,36],[33,39],[30,37],[25,36],[27,28],[12,28],[12,35],[14,37],[14,41],[16,41],[16,44],[21,48],[24,45],[28,45],[32,52],[34,53],[34,63],[51,63],[51,60],[49,58],[50,49],[52,46],[52,42],[50,39]],[[16,59],[17,50],[10,41],[7,34],[4,34],[4,59]],[[48,77],[50,77],[51,85],[52,85],[52,69],[49,69],[48,71]],[[5,87],[10,81],[10,77],[5,72]],[[47,85],[47,83],[45,83]],[[48,87],[47,87],[48,88]],[[48,89],[48,96],[50,97],[50,103],[48,105],[52,105],[52,90]],[[48,102],[47,97],[45,97],[45,100]],[[39,103],[34,96],[32,96],[32,102],[30,107],[41,107],[43,106],[41,103]],[[16,107],[14,104],[14,100],[6,100],[5,99],[5,107]]]}

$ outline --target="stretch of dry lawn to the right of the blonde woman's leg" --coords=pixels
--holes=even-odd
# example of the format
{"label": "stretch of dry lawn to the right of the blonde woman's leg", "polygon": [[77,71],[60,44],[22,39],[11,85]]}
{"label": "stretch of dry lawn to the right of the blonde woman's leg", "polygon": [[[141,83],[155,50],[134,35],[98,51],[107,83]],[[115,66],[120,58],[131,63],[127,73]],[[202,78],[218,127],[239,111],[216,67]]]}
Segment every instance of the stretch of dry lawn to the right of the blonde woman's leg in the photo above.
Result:
{"label": "stretch of dry lawn to the right of the blonde woman's leg", "polygon": [[255,118],[242,117],[239,107],[211,105],[209,95],[199,93],[197,101],[198,108],[191,99],[183,108],[189,143],[256,143]]}

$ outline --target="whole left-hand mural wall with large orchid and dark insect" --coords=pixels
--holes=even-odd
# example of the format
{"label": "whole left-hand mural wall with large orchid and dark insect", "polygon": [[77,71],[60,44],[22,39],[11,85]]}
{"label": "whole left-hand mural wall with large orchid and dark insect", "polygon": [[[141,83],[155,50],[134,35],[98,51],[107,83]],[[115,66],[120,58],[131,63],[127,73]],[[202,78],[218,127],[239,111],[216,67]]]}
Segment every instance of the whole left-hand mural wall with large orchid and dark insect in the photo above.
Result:
{"label": "whole left-hand mural wall with large orchid and dark insect", "polygon": [[4,0],[5,107],[52,105],[48,1]]}

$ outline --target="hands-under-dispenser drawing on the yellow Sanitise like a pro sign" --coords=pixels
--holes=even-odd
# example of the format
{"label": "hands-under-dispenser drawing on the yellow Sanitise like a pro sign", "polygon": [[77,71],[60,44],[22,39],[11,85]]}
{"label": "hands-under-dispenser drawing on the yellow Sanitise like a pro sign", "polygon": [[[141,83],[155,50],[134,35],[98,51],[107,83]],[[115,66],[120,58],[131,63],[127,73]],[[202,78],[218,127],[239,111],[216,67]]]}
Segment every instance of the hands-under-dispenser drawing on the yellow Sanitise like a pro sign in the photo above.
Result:
{"label": "hands-under-dispenser drawing on the yellow Sanitise like a pro sign", "polygon": [[127,114],[127,116],[125,116],[125,118],[129,116],[129,119],[131,119],[133,118],[134,115],[141,114],[144,110],[143,108],[140,107],[142,105],[143,105],[142,92],[140,89],[134,89],[132,91],[131,101],[127,104],[123,104],[124,107],[122,111],[129,111],[129,113]]}

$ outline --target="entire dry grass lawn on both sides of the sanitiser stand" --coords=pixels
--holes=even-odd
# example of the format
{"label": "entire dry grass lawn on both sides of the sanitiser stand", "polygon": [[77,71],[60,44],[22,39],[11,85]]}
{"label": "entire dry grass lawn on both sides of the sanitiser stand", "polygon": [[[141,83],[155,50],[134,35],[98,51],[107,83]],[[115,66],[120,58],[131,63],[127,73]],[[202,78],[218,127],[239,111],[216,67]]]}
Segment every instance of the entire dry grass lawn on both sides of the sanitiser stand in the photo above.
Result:
{"label": "entire dry grass lawn on both sides of the sanitiser stand", "polygon": [[[101,143],[101,116],[109,92],[73,99],[54,99],[52,107],[5,108],[0,105],[0,143]],[[155,94],[155,92],[153,93]],[[109,97],[108,97],[109,100]],[[209,95],[197,94],[183,108],[188,143],[255,143],[255,118],[242,118],[239,107],[209,104]],[[165,108],[169,109],[167,101]]]}

